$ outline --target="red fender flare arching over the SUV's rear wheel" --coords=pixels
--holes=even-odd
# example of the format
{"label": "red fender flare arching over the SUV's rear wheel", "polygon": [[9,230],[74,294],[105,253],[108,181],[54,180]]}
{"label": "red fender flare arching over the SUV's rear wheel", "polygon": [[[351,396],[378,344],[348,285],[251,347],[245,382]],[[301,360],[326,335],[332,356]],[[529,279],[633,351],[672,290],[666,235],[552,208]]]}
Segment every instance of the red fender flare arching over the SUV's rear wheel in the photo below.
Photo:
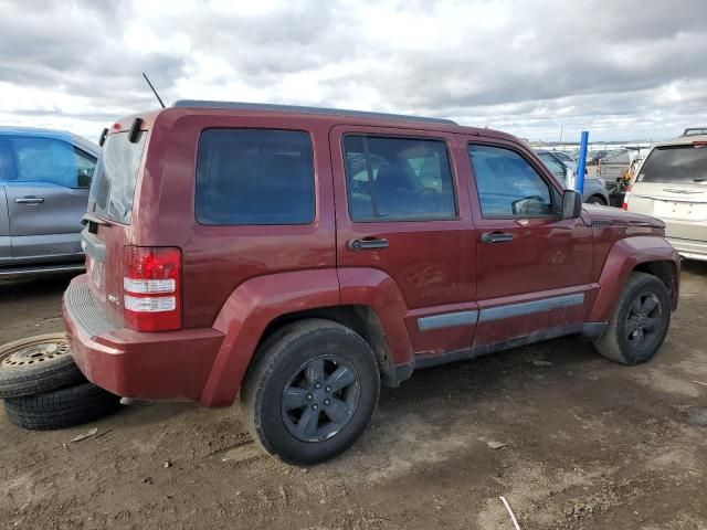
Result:
{"label": "red fender flare arching over the SUV's rear wheel", "polygon": [[236,287],[215,319],[213,329],[224,339],[200,403],[233,403],[263,332],[277,317],[350,305],[368,306],[378,317],[393,371],[397,365],[412,365],[404,324],[408,308],[398,284],[382,271],[350,267],[258,276]]}

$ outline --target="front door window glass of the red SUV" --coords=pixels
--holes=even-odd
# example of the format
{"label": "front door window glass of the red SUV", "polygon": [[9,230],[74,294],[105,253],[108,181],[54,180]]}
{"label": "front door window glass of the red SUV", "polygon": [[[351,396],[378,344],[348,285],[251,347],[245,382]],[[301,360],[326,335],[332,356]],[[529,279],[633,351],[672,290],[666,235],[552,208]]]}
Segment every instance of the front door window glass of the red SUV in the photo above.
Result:
{"label": "front door window glass of the red SUV", "polygon": [[469,145],[468,155],[484,218],[553,215],[550,187],[520,155],[481,145]]}

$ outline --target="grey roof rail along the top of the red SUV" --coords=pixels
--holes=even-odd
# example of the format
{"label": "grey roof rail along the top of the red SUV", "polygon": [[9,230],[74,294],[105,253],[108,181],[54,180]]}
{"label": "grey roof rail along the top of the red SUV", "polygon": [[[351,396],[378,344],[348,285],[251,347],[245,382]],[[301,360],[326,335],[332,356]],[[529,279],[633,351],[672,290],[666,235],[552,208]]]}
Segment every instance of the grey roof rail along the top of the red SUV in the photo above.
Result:
{"label": "grey roof rail along the top of the red SUV", "polygon": [[366,110],[345,110],[341,108],[304,107],[298,105],[273,105],[270,103],[243,103],[243,102],[209,102],[201,99],[179,99],[172,107],[196,108],[231,108],[236,110],[273,110],[284,113],[321,114],[327,116],[352,116],[360,118],[400,119],[405,121],[426,121],[430,124],[457,125],[456,121],[444,118],[426,118],[421,116],[407,116],[403,114],[369,113]]}

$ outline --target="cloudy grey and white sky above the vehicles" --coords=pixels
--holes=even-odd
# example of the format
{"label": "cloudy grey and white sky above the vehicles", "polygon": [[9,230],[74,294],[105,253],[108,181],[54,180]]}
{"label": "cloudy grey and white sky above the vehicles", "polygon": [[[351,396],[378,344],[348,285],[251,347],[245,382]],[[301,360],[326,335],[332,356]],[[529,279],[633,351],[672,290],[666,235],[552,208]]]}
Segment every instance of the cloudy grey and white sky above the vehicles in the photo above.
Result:
{"label": "cloudy grey and white sky above the vehicles", "polygon": [[520,137],[707,126],[707,1],[0,0],[0,125],[96,139],[180,98],[451,117]]}

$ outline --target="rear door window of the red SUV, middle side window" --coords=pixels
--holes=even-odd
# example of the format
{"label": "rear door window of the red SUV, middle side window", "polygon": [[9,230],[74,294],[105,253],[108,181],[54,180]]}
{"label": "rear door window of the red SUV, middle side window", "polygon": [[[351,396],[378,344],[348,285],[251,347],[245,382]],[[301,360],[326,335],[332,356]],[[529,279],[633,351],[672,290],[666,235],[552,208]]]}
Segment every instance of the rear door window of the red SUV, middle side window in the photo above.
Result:
{"label": "rear door window of the red SUV, middle side window", "polygon": [[352,221],[456,216],[444,141],[349,135],[344,157]]}

